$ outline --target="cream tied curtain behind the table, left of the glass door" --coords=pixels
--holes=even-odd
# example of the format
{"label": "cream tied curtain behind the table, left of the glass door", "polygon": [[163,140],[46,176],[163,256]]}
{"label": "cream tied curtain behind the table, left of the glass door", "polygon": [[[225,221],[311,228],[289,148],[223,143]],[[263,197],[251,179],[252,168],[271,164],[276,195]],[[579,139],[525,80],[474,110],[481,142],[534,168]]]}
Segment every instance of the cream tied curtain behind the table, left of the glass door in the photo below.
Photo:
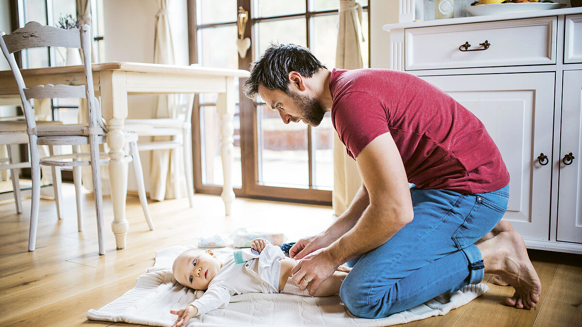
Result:
{"label": "cream tied curtain behind the table, left of the glass door", "polygon": [[[155,15],[154,63],[173,65],[175,63],[172,30],[168,17],[168,0],[156,0],[158,13]],[[177,118],[179,96],[176,94],[160,95],[158,97],[155,118]],[[164,140],[167,137],[155,137]],[[186,196],[186,179],[182,149],[156,150],[151,155],[150,198],[162,201],[166,198]],[[178,172],[175,174],[174,172]],[[174,176],[182,176],[177,180]]]}

